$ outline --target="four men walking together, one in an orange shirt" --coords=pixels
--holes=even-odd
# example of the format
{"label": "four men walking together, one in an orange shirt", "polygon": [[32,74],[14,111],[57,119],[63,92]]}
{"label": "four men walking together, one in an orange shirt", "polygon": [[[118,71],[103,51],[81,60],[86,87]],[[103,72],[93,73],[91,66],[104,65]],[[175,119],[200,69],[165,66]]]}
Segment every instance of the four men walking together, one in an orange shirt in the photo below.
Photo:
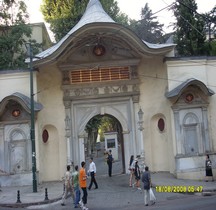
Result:
{"label": "four men walking together, one in an orange shirt", "polygon": [[[78,208],[80,206],[83,210],[88,210],[88,208],[86,207],[87,197],[88,197],[88,193],[87,193],[88,174],[89,176],[91,176],[91,181],[88,186],[88,189],[91,190],[93,183],[95,185],[95,189],[98,189],[98,184],[95,179],[96,166],[95,163],[93,162],[93,158],[90,158],[89,162],[90,164],[89,164],[88,173],[86,173],[86,169],[85,169],[86,163],[84,161],[81,162],[80,170],[78,169],[79,168],[78,165],[74,167],[73,163],[71,164],[71,166],[70,165],[67,166],[67,170],[64,176],[64,193],[61,202],[62,206],[65,205],[65,200],[67,198],[68,192],[70,192],[74,201],[74,208]],[[81,196],[80,188],[83,194],[81,199],[80,199]]]}

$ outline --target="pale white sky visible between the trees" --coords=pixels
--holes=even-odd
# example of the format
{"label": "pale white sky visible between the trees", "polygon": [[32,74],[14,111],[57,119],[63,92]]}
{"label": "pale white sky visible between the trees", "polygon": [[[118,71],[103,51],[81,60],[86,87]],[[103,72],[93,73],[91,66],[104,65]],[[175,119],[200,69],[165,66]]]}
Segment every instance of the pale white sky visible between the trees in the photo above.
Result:
{"label": "pale white sky visible between the trees", "polygon": [[[40,12],[42,0],[25,0],[25,2],[30,14],[30,22],[44,22]],[[168,28],[169,23],[174,20],[172,12],[167,9],[161,12],[158,11],[173,3],[174,0],[117,0],[117,2],[121,12],[127,14],[129,18],[136,20],[140,19],[141,8],[148,3],[152,13],[156,13],[155,16],[157,16],[159,23],[164,24],[164,30],[166,32],[172,31],[171,28]],[[209,12],[216,5],[215,0],[196,0],[196,3],[199,13]],[[48,27],[48,24],[46,26]]]}

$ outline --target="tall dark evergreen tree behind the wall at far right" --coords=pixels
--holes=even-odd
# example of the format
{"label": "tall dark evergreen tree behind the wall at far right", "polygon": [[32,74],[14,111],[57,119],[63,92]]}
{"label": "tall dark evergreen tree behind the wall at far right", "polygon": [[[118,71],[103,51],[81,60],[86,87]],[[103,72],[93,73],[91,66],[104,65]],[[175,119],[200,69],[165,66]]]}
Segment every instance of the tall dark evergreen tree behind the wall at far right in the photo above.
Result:
{"label": "tall dark evergreen tree behind the wall at far right", "polygon": [[174,42],[178,56],[206,54],[204,20],[197,13],[195,0],[176,0],[173,8],[176,17]]}

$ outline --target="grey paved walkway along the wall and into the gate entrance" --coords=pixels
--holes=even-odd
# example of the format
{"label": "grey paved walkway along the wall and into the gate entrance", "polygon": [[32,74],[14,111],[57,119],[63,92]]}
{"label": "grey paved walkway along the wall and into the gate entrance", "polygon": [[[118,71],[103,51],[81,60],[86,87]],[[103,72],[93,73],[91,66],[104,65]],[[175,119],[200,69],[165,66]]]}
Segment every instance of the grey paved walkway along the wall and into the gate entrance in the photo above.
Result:
{"label": "grey paved walkway along the wall and into the gate entrance", "polygon": [[[129,175],[121,174],[121,161],[113,164],[113,176],[108,177],[107,165],[104,163],[103,157],[94,159],[97,168],[97,182],[99,183],[99,189],[92,190],[96,193],[97,198],[104,199],[105,194],[109,194],[110,199],[113,201],[113,205],[119,202],[119,198],[115,196],[115,192],[119,192],[122,199],[131,202],[131,192],[136,191],[135,188],[129,187]],[[88,165],[88,164],[87,164]],[[187,191],[193,191],[196,189],[202,189],[202,193],[199,194],[214,194],[216,192],[216,181],[194,181],[194,180],[181,180],[176,179],[172,174],[167,172],[152,173],[152,183],[154,190],[169,191],[168,186],[184,186]],[[160,186],[164,186],[161,187]],[[199,187],[199,188],[198,188]],[[47,193],[46,193],[47,189]],[[172,188],[172,190],[181,190],[182,188]],[[18,195],[19,191],[19,195]],[[113,195],[110,195],[113,192]],[[32,206],[41,205],[59,201],[63,193],[62,182],[46,182],[38,185],[36,193],[33,193],[32,186],[18,186],[18,187],[1,187],[0,188],[0,206]],[[164,193],[166,194],[169,193]],[[102,200],[102,199],[97,199]],[[117,201],[118,200],[118,201]],[[136,199],[135,199],[136,200]],[[101,201],[103,202],[103,201]],[[134,201],[135,202],[135,201]]]}

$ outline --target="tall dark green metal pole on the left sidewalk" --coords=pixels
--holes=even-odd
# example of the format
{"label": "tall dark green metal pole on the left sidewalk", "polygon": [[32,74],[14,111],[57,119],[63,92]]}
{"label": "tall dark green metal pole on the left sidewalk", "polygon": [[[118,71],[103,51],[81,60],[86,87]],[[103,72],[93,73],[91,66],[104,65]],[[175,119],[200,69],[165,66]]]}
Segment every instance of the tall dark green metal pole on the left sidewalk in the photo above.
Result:
{"label": "tall dark green metal pole on the left sidewalk", "polygon": [[37,192],[37,177],[36,177],[36,152],[35,152],[35,112],[34,112],[34,84],[33,84],[33,65],[32,65],[32,46],[31,43],[26,43],[27,53],[30,58],[30,96],[31,96],[31,143],[32,143],[32,176],[33,176],[33,192]]}

